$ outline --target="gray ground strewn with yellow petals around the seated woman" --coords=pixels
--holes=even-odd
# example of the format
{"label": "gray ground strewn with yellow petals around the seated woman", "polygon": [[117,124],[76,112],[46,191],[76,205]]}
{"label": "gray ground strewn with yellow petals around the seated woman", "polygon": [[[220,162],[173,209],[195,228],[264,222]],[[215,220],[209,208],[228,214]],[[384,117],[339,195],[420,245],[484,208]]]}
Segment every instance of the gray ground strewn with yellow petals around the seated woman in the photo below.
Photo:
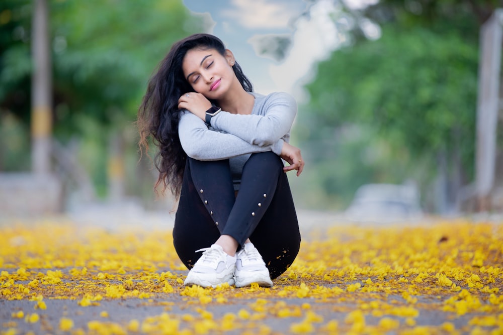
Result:
{"label": "gray ground strewn with yellow petals around the seated woman", "polygon": [[171,230],[4,222],[0,333],[503,333],[503,225],[327,227],[273,288],[203,289]]}

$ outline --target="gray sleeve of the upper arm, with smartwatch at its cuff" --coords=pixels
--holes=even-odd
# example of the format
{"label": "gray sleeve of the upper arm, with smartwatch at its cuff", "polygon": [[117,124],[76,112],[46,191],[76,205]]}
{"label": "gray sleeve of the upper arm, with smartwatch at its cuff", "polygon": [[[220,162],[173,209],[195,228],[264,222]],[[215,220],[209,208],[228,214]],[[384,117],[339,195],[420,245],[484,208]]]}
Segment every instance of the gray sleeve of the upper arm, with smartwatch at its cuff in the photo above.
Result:
{"label": "gray sleeve of the upper arm, with smartwatch at its cuff", "polygon": [[297,115],[297,102],[283,92],[271,94],[264,105],[264,115],[240,115],[222,111],[211,119],[211,126],[235,135],[249,144],[268,146],[284,138]]}

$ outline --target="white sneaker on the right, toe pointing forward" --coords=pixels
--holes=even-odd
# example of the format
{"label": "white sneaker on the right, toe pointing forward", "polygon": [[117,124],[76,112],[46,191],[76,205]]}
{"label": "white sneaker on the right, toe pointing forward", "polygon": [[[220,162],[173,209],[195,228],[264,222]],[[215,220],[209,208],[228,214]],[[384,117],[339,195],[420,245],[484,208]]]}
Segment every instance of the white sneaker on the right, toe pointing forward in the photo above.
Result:
{"label": "white sneaker on the right, toe pointing forward", "polygon": [[273,286],[266,263],[253,243],[245,243],[244,248],[236,254],[236,258],[234,271],[236,287],[249,286],[251,283],[258,283],[263,287]]}

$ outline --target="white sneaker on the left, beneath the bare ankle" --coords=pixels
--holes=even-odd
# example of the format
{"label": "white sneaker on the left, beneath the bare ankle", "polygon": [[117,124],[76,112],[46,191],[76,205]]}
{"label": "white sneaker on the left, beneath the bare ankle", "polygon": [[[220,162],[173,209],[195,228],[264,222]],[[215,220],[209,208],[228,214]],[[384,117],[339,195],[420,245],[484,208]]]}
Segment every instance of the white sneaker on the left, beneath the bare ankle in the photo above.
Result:
{"label": "white sneaker on the left, beneath the bare ankle", "polygon": [[234,284],[235,257],[227,255],[222,247],[216,244],[196,252],[199,251],[203,251],[203,255],[189,271],[184,285],[216,287],[223,283]]}

